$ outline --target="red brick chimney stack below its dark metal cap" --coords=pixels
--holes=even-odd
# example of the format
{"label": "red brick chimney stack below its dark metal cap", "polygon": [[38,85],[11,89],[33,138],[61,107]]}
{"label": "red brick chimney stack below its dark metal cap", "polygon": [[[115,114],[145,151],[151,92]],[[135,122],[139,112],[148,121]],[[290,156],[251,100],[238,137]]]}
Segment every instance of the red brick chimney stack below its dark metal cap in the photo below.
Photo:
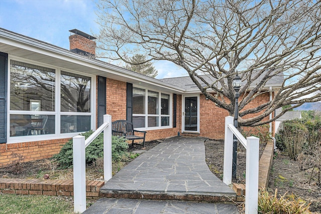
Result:
{"label": "red brick chimney stack below its dark metal cap", "polygon": [[80,49],[90,54],[96,55],[96,42],[83,36],[74,34],[69,37],[70,50]]}

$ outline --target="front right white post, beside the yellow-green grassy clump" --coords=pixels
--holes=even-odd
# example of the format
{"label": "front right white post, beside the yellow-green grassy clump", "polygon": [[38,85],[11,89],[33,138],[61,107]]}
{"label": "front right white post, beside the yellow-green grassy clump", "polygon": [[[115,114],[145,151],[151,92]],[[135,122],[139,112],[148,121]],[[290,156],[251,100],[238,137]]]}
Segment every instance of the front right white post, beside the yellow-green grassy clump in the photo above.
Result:
{"label": "front right white post, beside the yellow-green grassy clump", "polygon": [[257,213],[258,205],[260,139],[251,136],[246,141],[245,214],[251,214]]}

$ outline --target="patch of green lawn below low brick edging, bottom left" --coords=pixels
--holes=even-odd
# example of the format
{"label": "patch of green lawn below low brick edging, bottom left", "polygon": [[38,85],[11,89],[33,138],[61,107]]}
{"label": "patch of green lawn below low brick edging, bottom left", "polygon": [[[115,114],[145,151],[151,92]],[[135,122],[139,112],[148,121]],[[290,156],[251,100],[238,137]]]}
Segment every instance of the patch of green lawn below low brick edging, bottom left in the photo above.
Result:
{"label": "patch of green lawn below low brick edging, bottom left", "polygon": [[0,213],[74,213],[72,198],[47,195],[0,194]]}

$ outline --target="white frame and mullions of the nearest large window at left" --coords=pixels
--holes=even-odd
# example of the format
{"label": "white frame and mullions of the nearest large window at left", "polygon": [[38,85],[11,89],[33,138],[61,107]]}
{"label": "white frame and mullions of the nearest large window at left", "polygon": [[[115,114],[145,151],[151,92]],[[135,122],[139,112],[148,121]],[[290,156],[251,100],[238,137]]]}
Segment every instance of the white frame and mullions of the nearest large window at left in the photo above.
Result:
{"label": "white frame and mullions of the nearest large window at left", "polygon": [[[10,77],[11,77],[11,60],[29,63],[37,66],[43,66],[46,68],[51,68],[55,70],[55,111],[17,111],[10,109]],[[91,78],[91,99],[90,99],[90,112],[61,112],[60,111],[60,75],[61,71],[66,71],[73,74],[80,74]],[[40,63],[33,60],[28,60],[25,58],[20,58],[16,56],[8,56],[8,93],[7,93],[7,143],[20,143],[20,142],[31,142],[39,140],[52,140],[52,139],[62,139],[62,138],[71,138],[78,135],[82,132],[72,132],[72,133],[60,133],[60,117],[61,115],[90,115],[91,116],[91,128],[96,130],[96,76],[90,75],[88,73],[81,73],[70,69],[65,69],[61,67],[52,66],[45,63]],[[55,115],[55,134],[44,134],[44,135],[26,135],[26,136],[10,136],[10,115],[12,114],[41,114],[41,115]]]}

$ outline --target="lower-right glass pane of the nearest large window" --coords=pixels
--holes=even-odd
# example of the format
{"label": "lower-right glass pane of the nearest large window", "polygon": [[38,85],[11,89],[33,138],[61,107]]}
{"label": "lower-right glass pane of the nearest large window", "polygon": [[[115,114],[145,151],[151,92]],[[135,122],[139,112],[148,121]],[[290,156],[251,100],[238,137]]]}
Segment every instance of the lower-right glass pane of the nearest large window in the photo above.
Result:
{"label": "lower-right glass pane of the nearest large window", "polygon": [[60,133],[85,132],[91,128],[90,115],[62,115]]}

